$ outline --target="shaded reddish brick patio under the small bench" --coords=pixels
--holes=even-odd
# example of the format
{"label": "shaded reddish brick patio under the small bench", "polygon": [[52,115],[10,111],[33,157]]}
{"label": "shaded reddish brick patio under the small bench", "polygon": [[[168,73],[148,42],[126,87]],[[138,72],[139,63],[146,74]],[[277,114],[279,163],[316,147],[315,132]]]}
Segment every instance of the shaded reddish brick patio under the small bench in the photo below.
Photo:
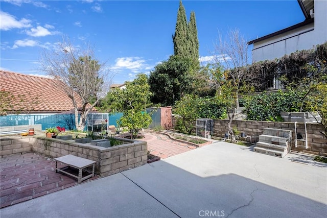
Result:
{"label": "shaded reddish brick patio under the small bench", "polygon": [[34,153],[1,158],[0,166],[0,208],[77,185],[76,179],[56,173],[56,161]]}

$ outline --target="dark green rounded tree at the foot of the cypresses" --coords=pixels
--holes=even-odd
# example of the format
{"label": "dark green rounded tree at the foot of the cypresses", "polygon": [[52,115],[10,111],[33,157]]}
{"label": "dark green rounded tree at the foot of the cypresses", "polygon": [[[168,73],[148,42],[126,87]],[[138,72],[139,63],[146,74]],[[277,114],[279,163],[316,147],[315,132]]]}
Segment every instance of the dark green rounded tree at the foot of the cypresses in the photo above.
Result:
{"label": "dark green rounded tree at the foot of the cypresses", "polygon": [[194,82],[193,63],[189,58],[171,56],[155,66],[150,72],[151,101],[163,106],[172,106],[184,94],[192,92]]}

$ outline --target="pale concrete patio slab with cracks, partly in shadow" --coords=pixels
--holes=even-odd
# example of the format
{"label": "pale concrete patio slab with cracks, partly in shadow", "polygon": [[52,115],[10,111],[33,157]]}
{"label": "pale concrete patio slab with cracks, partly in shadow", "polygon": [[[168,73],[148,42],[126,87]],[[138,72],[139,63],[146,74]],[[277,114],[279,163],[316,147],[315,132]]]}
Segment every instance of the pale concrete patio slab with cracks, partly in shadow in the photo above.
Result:
{"label": "pale concrete patio slab with cracks, partly in shadow", "polygon": [[325,217],[327,164],[217,142],[5,207],[4,217]]}

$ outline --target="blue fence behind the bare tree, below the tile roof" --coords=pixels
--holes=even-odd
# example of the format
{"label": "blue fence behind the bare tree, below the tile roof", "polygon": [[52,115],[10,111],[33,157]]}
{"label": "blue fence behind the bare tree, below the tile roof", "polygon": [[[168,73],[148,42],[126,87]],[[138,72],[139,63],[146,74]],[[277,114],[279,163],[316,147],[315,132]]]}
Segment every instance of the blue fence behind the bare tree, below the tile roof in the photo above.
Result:
{"label": "blue fence behind the bare tree, below the tile roof", "polygon": [[[90,115],[90,114],[89,114]],[[109,125],[116,126],[116,119],[120,119],[122,113],[109,115]],[[53,115],[7,115],[0,116],[0,126],[20,126],[41,124],[42,130],[50,127],[64,127],[68,130],[76,129],[74,114],[53,114]],[[85,130],[87,129],[87,124]]]}

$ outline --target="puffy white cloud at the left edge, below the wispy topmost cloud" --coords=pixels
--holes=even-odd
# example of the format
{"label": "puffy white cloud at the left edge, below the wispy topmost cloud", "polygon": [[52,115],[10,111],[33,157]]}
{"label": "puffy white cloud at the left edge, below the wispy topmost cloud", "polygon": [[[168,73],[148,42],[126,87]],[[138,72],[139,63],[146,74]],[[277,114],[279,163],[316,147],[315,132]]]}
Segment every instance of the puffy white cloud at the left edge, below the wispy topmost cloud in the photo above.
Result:
{"label": "puffy white cloud at the left edge, below the wispy topmost cloud", "polygon": [[13,15],[0,11],[0,30],[31,27],[31,20],[22,18],[17,20]]}

